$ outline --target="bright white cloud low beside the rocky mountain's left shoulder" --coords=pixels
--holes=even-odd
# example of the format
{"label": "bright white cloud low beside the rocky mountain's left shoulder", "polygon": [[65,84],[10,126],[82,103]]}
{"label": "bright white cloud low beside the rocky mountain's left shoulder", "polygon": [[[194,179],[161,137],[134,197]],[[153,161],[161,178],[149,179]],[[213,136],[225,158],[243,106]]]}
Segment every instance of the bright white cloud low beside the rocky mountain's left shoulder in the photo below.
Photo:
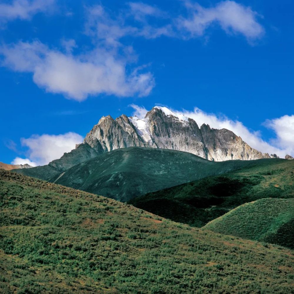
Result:
{"label": "bright white cloud low beside the rocky mountain's left shoulder", "polygon": [[[61,135],[43,134],[33,135],[30,138],[21,138],[21,145],[28,147],[26,152],[27,158],[15,158],[13,163],[21,162],[21,160],[30,160],[36,165],[45,165],[50,161],[60,158],[64,152],[70,152],[75,148],[76,144],[81,143],[83,137],[77,133],[69,132]],[[29,162],[27,162],[29,163]],[[31,163],[29,163],[31,165]]]}

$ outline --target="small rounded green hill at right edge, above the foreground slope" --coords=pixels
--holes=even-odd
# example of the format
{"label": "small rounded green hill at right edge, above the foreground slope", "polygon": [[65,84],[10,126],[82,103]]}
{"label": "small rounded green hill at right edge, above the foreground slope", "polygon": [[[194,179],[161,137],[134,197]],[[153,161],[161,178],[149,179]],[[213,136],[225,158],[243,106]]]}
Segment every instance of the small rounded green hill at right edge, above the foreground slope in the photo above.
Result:
{"label": "small rounded green hill at right edge, above the foreground slope", "polygon": [[294,249],[294,198],[263,198],[245,203],[204,228]]}

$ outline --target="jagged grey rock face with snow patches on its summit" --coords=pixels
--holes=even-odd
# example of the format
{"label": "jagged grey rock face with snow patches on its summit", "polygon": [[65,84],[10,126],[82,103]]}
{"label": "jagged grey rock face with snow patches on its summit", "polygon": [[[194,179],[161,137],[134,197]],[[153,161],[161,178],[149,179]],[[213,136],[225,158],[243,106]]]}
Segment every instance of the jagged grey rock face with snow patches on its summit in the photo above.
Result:
{"label": "jagged grey rock face with snow patches on its summit", "polygon": [[171,112],[154,107],[145,118],[121,115],[102,117],[86,135],[84,143],[98,153],[131,146],[165,148],[193,153],[211,161],[270,158],[268,153],[251,148],[227,129],[213,129]]}

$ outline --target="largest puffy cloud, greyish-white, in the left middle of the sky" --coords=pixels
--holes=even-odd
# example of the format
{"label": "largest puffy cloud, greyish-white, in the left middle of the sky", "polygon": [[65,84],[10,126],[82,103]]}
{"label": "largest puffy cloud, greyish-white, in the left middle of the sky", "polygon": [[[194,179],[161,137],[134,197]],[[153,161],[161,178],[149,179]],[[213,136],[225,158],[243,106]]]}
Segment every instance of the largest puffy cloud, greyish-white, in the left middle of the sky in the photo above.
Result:
{"label": "largest puffy cloud, greyish-white, in the left middle of the sky", "polygon": [[150,72],[139,68],[127,73],[127,59],[115,50],[96,48],[74,56],[49,49],[39,41],[19,42],[0,48],[2,65],[14,71],[33,73],[34,82],[47,92],[61,93],[82,101],[88,95],[147,96],[154,87]]}

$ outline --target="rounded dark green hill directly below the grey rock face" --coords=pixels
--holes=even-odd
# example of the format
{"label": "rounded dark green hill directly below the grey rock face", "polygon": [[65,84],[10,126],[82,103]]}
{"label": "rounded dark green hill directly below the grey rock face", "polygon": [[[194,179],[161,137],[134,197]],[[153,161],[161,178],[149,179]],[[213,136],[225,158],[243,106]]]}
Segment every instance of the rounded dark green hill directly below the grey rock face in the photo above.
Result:
{"label": "rounded dark green hill directly below the grey rock face", "polygon": [[[128,201],[148,192],[256,164],[256,161],[212,162],[188,152],[129,147],[98,155],[48,180]],[[32,171],[29,174],[32,175]]]}

